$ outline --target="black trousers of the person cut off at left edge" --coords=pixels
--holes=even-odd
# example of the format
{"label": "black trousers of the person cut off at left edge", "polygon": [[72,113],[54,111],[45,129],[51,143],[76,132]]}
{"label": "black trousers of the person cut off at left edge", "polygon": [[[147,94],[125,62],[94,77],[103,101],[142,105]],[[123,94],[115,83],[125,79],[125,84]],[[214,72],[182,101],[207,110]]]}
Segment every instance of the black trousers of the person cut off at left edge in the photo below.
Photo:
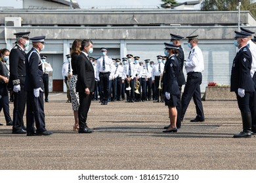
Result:
{"label": "black trousers of the person cut off at left edge", "polygon": [[0,84],[0,112],[3,108],[3,114],[5,115],[5,121],[11,122],[10,108],[9,108],[9,94],[7,90],[7,84]]}

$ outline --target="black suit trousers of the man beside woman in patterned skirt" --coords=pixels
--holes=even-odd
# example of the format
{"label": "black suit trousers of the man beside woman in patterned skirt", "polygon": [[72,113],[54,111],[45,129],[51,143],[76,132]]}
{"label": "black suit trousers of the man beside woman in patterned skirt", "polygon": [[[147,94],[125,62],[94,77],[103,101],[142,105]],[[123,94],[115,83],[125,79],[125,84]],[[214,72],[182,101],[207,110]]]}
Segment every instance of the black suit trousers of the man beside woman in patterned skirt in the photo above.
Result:
{"label": "black suit trousers of the man beside woman in patterned skirt", "polygon": [[78,108],[78,118],[79,118],[79,129],[87,127],[87,114],[91,106],[91,100],[93,99],[93,92],[86,95],[85,92],[79,92],[79,108]]}

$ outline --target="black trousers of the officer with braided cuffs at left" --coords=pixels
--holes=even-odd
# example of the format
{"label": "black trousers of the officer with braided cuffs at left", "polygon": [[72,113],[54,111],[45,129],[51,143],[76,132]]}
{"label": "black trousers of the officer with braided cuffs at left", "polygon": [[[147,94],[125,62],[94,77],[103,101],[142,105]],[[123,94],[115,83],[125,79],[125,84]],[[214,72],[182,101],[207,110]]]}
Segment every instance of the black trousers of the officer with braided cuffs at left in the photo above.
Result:
{"label": "black trousers of the officer with braided cuffs at left", "polygon": [[[25,79],[25,77],[24,77]],[[21,80],[21,78],[20,78]],[[25,91],[24,84],[20,83],[20,91],[13,92],[14,101],[13,101],[13,125],[12,131],[19,131],[24,126],[24,112],[27,101],[27,92]]]}

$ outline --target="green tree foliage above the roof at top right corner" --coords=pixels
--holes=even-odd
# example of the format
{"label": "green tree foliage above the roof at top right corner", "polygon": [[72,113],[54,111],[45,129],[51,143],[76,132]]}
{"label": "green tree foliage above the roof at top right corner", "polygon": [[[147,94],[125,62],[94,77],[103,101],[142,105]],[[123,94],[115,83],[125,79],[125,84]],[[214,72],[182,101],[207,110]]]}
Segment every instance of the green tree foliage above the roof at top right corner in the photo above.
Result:
{"label": "green tree foliage above the roof at top right corner", "polygon": [[[203,11],[237,10],[238,0],[204,0],[201,4]],[[240,10],[249,10],[256,17],[256,4],[252,0],[242,0]]]}

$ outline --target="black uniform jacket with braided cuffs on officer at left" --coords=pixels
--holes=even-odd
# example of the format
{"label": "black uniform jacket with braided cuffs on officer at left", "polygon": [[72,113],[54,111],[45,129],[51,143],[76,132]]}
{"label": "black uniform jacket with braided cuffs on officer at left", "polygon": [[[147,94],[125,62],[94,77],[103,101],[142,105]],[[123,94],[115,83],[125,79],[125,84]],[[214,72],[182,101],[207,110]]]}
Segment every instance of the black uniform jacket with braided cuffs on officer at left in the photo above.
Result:
{"label": "black uniform jacket with braided cuffs on officer at left", "polygon": [[24,87],[26,77],[25,59],[26,53],[18,44],[10,52],[10,79],[8,88],[12,90],[14,84],[20,84]]}

